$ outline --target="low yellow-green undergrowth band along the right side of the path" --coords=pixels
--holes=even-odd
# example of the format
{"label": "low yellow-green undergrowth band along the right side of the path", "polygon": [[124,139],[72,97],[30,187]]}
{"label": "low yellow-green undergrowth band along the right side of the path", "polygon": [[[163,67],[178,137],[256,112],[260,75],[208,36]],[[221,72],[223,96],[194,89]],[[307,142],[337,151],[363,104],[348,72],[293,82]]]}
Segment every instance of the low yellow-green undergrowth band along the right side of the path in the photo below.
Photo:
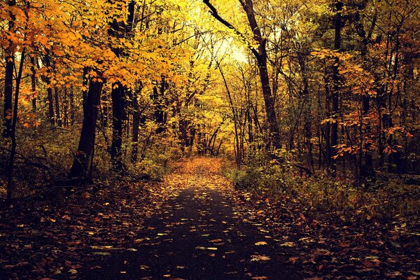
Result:
{"label": "low yellow-green undergrowth band along the right side of the path", "polygon": [[369,188],[353,179],[334,179],[326,173],[308,176],[288,157],[266,162],[248,159],[240,169],[224,174],[235,188],[270,200],[297,200],[314,216],[336,216],[343,221],[407,221],[418,224],[419,186],[399,176],[377,179]]}

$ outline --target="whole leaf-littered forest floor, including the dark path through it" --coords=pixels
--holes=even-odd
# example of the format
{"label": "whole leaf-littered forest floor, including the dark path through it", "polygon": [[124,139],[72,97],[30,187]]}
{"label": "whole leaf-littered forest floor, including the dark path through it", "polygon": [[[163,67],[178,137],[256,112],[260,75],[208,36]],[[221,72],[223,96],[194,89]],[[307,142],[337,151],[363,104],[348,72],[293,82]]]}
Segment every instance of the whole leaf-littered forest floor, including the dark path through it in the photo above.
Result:
{"label": "whole leaf-littered forest floor, including the dark path through it", "polygon": [[232,188],[221,161],[0,210],[2,279],[417,279],[419,233]]}

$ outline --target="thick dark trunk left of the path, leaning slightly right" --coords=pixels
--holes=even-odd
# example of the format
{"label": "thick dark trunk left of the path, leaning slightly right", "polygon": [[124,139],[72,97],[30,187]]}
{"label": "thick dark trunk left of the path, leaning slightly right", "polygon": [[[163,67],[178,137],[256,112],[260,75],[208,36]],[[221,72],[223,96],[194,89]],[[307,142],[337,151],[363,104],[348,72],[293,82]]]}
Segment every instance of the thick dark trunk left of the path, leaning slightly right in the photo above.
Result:
{"label": "thick dark trunk left of the path, leaning slightly right", "polygon": [[97,72],[95,80],[90,80],[89,90],[83,102],[83,126],[73,166],[69,173],[70,178],[88,176],[87,171],[94,151],[96,123],[103,84],[102,73],[99,72]]}

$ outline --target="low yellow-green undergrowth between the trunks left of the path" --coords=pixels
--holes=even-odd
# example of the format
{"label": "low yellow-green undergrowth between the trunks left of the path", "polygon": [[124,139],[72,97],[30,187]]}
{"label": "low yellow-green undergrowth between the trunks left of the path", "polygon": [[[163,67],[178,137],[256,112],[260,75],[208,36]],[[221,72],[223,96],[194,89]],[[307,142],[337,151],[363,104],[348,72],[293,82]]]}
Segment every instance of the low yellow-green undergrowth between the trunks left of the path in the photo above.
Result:
{"label": "low yellow-green undergrowth between the trunks left of the path", "polygon": [[[77,150],[78,139],[73,137],[73,130],[62,127],[41,126],[36,132],[19,130],[19,145],[15,157],[13,172],[13,184],[15,186],[15,198],[32,197],[43,194],[45,191],[63,187],[80,187],[80,183],[70,183],[68,174]],[[42,137],[39,137],[42,135]],[[137,162],[130,162],[131,146],[126,146],[123,151],[125,172],[117,174],[110,172],[111,156],[110,144],[106,139],[111,135],[98,132],[94,146],[94,158],[92,168],[87,170],[87,176],[97,188],[107,188],[118,184],[121,180],[133,181],[146,179],[160,181],[171,170],[171,162],[180,157],[180,149],[177,147],[167,148],[164,144],[156,141],[148,146]],[[127,151],[126,151],[127,150]],[[6,199],[6,186],[8,176],[8,164],[10,160],[10,148],[7,145],[0,149],[0,201]],[[82,183],[82,185],[85,183]],[[60,190],[61,191],[61,190]],[[66,191],[66,190],[64,190]],[[57,192],[54,190],[54,193]]]}

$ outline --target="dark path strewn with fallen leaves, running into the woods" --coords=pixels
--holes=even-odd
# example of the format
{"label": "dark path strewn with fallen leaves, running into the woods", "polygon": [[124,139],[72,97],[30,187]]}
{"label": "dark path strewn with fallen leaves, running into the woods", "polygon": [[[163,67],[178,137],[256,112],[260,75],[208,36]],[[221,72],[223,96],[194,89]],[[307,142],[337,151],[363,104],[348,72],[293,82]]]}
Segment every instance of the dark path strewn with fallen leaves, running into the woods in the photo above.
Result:
{"label": "dark path strewn with fallen leaves, running into the woods", "polygon": [[99,258],[85,279],[302,279],[284,248],[228,199],[220,165],[183,162],[165,179],[178,191],[146,220],[134,248]]}

